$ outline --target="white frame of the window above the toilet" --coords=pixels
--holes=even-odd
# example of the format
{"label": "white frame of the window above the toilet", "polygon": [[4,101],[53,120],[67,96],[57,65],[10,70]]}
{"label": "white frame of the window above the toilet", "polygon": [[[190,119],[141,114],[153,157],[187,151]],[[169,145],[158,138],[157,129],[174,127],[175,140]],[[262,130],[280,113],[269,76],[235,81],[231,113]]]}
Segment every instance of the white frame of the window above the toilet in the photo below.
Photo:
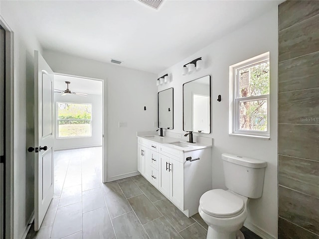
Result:
{"label": "white frame of the window above the toilet", "polygon": [[[233,135],[242,135],[242,136],[253,136],[261,138],[270,137],[270,104],[269,104],[269,95],[261,96],[249,96],[249,97],[239,97],[239,78],[238,72],[244,68],[258,65],[269,60],[269,52],[262,55],[256,56],[254,58],[248,59],[246,61],[240,62],[238,64],[230,66],[230,123],[231,127],[229,128],[229,134]],[[270,79],[269,79],[270,84]],[[267,101],[267,131],[261,130],[244,130],[239,128],[239,105],[240,102],[247,101],[257,101],[257,100],[266,100]]]}

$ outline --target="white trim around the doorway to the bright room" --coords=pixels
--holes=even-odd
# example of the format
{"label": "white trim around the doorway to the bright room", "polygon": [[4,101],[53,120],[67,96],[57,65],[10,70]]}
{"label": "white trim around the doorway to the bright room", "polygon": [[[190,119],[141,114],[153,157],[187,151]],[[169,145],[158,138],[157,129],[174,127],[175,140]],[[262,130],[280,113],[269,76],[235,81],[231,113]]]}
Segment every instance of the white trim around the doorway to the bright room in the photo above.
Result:
{"label": "white trim around the doorway to the bright room", "polygon": [[[64,73],[57,73],[53,72],[53,75],[60,75],[60,76],[69,76],[69,77],[75,77],[75,78],[82,78],[87,80],[93,80],[93,81],[100,81],[102,82],[102,182],[107,182],[107,97],[105,96],[105,93],[107,92],[107,84],[106,79],[98,79],[98,78],[92,78],[92,77],[85,77],[85,76],[76,76],[76,75],[70,75],[70,74],[64,74]],[[55,107],[55,106],[54,106]],[[56,107],[54,108],[56,109]],[[55,114],[56,118],[56,114]]]}

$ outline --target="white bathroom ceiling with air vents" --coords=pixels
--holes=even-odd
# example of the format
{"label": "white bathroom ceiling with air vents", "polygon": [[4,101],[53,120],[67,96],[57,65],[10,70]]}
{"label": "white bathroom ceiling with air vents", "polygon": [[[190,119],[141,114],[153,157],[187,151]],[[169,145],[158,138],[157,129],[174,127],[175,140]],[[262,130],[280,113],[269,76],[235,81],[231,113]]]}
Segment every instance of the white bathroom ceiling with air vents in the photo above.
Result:
{"label": "white bathroom ceiling with air vents", "polygon": [[[159,73],[283,0],[1,1],[43,49]],[[114,63],[112,63],[114,64]]]}

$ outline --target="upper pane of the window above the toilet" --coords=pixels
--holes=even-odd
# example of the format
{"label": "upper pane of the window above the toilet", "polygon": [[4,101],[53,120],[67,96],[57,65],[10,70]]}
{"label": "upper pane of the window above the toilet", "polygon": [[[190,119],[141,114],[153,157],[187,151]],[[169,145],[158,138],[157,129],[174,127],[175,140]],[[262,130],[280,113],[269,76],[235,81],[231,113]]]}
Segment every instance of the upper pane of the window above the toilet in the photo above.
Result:
{"label": "upper pane of the window above the toilet", "polygon": [[238,96],[261,96],[269,94],[269,61],[237,71]]}

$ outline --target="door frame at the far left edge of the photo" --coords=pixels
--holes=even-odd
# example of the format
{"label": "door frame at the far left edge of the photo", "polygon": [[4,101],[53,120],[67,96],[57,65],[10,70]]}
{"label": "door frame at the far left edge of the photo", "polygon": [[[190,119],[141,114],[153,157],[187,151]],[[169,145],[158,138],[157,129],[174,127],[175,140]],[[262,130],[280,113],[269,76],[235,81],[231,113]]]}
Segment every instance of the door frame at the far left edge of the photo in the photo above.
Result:
{"label": "door frame at the far left edge of the photo", "polygon": [[13,237],[13,38],[14,33],[0,15],[0,25],[5,30],[5,164],[4,164],[4,238]]}

